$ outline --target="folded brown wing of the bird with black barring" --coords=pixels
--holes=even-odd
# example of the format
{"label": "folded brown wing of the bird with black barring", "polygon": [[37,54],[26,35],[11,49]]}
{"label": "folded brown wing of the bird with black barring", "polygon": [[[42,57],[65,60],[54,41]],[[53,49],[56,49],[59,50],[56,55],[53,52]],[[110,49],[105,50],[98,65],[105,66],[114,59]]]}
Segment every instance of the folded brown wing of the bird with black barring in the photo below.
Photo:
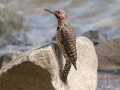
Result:
{"label": "folded brown wing of the bird with black barring", "polygon": [[61,28],[61,43],[64,46],[66,54],[71,62],[77,60],[76,36],[72,28]]}

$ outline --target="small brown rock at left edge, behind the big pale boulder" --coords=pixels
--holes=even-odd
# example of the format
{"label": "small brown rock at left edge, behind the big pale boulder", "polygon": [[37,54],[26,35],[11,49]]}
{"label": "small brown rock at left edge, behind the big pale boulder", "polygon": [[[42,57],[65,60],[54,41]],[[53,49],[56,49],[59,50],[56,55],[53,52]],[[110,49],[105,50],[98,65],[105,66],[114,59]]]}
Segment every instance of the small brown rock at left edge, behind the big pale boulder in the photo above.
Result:
{"label": "small brown rock at left edge, behind the big pale boulder", "polygon": [[0,68],[5,66],[11,60],[15,59],[18,56],[16,53],[6,53],[0,57]]}

